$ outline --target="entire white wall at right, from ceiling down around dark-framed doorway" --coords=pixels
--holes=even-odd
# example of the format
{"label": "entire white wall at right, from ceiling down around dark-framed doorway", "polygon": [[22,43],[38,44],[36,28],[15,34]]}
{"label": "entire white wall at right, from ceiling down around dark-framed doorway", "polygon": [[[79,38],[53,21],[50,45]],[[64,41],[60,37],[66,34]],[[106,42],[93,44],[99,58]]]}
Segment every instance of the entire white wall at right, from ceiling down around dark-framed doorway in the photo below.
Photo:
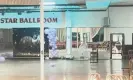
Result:
{"label": "entire white wall at right, from ceiling down around dark-framed doorway", "polygon": [[133,7],[110,7],[110,27],[104,29],[104,40],[110,40],[111,33],[124,33],[125,44],[132,44]]}

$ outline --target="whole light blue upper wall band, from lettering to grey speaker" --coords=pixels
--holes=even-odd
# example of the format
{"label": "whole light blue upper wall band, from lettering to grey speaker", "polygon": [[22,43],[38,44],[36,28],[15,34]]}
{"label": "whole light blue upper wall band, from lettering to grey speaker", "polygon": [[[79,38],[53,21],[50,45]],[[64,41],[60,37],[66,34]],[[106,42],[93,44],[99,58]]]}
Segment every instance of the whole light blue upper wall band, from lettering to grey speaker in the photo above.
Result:
{"label": "whole light blue upper wall band, from lettering to grey speaker", "polygon": [[[68,18],[65,13],[70,13],[70,17]],[[107,11],[46,12],[45,18],[52,18],[52,20],[54,18],[54,20],[53,22],[46,20],[45,26],[50,28],[102,27],[104,17],[107,17]],[[6,22],[5,18],[17,19],[17,21]],[[22,21],[22,18],[24,21]],[[21,15],[18,15],[17,13],[5,13],[0,16],[0,23],[2,23],[0,24],[0,28],[40,27],[38,18],[39,12],[22,13]],[[27,21],[25,21],[25,19],[27,19]],[[68,26],[66,23],[68,20],[71,21],[71,26]]]}

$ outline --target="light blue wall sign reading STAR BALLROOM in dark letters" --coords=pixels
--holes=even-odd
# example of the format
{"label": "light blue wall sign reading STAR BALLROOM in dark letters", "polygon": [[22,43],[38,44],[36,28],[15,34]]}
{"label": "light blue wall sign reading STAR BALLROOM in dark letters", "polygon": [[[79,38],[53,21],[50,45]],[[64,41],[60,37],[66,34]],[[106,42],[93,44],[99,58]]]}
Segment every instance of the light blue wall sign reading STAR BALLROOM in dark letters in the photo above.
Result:
{"label": "light blue wall sign reading STAR BALLROOM in dark letters", "polygon": [[[62,12],[46,12],[44,25],[49,28],[64,28],[65,18]],[[39,28],[40,13],[5,13],[0,14],[0,28]]]}

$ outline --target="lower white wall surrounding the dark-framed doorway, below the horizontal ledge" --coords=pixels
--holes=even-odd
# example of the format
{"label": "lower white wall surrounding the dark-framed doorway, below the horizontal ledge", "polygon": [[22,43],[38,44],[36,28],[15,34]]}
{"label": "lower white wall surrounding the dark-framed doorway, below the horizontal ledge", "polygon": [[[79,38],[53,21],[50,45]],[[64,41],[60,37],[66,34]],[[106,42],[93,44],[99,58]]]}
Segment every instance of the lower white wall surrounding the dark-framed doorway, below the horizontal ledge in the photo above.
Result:
{"label": "lower white wall surrounding the dark-framed doorway, below the horizontal ledge", "polygon": [[111,33],[124,33],[125,35],[125,44],[131,45],[132,44],[132,33],[133,28],[105,28],[104,31],[104,39],[105,41],[110,41],[110,34]]}

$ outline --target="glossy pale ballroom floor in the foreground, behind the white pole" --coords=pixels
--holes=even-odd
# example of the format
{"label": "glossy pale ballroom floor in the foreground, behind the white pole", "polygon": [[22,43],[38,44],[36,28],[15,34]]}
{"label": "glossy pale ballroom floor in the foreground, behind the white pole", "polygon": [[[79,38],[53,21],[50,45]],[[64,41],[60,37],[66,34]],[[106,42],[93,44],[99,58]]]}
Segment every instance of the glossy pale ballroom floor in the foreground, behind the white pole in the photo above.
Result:
{"label": "glossy pale ballroom floor in the foreground, behind the white pole", "polygon": [[[44,65],[45,80],[89,80],[88,74],[91,73],[99,73],[105,80],[108,74],[123,74],[121,60],[100,60],[99,63],[46,60]],[[6,60],[0,63],[0,80],[38,80],[39,75],[39,60]]]}

